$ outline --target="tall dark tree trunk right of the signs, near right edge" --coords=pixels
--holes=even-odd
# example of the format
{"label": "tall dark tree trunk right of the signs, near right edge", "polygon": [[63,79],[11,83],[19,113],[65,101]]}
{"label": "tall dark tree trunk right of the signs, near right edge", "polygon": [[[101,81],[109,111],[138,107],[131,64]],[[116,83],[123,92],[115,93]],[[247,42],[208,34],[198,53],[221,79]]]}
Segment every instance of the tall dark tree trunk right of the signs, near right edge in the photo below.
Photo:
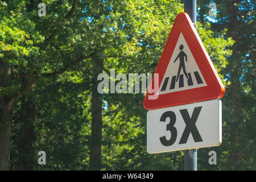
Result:
{"label": "tall dark tree trunk right of the signs, near right edge", "polygon": [[230,84],[230,100],[231,106],[234,110],[234,120],[230,122],[230,138],[232,146],[232,152],[229,154],[229,161],[231,165],[229,166],[229,170],[236,170],[240,164],[240,156],[241,151],[238,149],[239,144],[239,126],[242,120],[242,108],[241,108],[241,83],[239,78],[241,77],[239,73],[241,58],[239,55],[239,44],[237,42],[237,26],[238,26],[238,6],[234,3],[239,3],[239,1],[233,1],[232,5],[230,5],[228,9],[229,14],[229,24],[228,24],[228,36],[232,37],[233,40],[236,40],[234,45],[232,46],[232,56],[229,57],[230,66],[232,66],[230,72],[231,84]]}

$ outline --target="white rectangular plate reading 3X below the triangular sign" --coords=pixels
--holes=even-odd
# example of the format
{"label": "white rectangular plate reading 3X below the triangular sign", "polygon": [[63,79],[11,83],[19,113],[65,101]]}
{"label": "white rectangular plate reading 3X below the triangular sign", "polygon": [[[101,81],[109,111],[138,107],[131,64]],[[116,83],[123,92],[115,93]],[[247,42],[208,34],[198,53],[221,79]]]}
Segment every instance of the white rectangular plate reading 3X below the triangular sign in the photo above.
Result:
{"label": "white rectangular plate reading 3X below the triangular sign", "polygon": [[221,132],[217,99],[147,112],[149,154],[219,146]]}

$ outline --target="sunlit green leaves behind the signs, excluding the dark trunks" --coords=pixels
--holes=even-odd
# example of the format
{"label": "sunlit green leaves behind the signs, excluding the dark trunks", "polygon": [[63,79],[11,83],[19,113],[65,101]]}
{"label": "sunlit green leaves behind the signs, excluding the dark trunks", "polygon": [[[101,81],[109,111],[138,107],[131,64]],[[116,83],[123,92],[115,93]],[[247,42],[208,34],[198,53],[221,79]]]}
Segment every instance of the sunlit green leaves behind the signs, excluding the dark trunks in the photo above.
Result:
{"label": "sunlit green leaves behind the signs, excluding the dark trunks", "polygon": [[[1,1],[0,59],[9,61],[17,76],[11,86],[14,93],[5,93],[10,96],[20,93],[23,83],[29,80],[31,69],[41,77],[61,71],[77,57],[84,56],[84,60],[64,73],[52,78],[42,77],[29,94],[33,94],[36,101],[33,168],[88,170],[93,86],[93,59],[89,55],[96,53],[103,59],[104,72],[108,74],[112,68],[116,74],[127,76],[128,73],[154,73],[172,24],[176,15],[183,11],[183,5],[180,1],[166,0],[78,1],[76,10],[69,15],[72,1],[43,2],[47,7],[46,17],[37,15],[36,1]],[[202,6],[200,12],[203,9]],[[204,10],[206,14],[207,9]],[[234,80],[227,78],[227,74],[232,71],[231,48],[236,39],[230,37],[228,27],[215,28],[204,20],[197,24],[197,32],[214,66],[230,89]],[[252,61],[246,60],[245,64],[241,70],[254,68]],[[242,110],[243,121],[253,126],[255,105],[249,100],[255,100],[255,84],[251,84],[255,81],[246,71],[242,73],[246,75],[242,77],[241,90],[246,98],[243,104],[247,103]],[[143,98],[143,93],[103,94],[103,170],[183,170],[183,151],[147,154],[147,111],[143,108]],[[231,102],[230,96],[224,97],[223,144],[199,150],[200,170],[229,169],[229,152],[233,147],[230,145],[233,138],[229,122],[236,119],[229,106]],[[20,101],[17,101],[14,105],[11,169],[16,169],[20,158],[17,147],[19,110]],[[240,143],[243,143],[246,137],[251,138],[251,130],[245,126],[240,129],[244,134]],[[253,139],[242,147],[246,148],[243,155],[249,157],[243,159],[241,169],[255,169],[252,165],[255,154],[247,154],[249,149],[255,148]],[[40,150],[46,151],[46,166],[37,164]],[[208,164],[210,150],[217,151],[217,166]]]}

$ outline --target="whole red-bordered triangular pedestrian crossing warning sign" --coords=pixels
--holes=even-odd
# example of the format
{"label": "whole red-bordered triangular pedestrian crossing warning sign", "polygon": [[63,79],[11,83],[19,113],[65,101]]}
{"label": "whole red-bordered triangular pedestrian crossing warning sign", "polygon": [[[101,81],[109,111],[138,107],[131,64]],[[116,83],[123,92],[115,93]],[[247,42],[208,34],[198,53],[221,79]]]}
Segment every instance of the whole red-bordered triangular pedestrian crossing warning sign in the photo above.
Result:
{"label": "whole red-bordered triangular pedestrian crossing warning sign", "polygon": [[177,15],[155,73],[158,73],[158,80],[153,77],[151,81],[154,92],[147,92],[143,102],[148,110],[212,100],[225,93],[186,13]]}

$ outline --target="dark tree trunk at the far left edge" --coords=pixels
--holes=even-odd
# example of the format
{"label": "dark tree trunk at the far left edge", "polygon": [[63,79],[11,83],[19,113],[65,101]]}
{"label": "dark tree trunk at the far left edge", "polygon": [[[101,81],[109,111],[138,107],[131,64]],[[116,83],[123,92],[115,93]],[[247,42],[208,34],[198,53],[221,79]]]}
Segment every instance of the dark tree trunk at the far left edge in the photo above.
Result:
{"label": "dark tree trunk at the far left edge", "polygon": [[[10,86],[11,68],[0,60],[0,89]],[[9,170],[13,102],[0,91],[0,171]]]}

